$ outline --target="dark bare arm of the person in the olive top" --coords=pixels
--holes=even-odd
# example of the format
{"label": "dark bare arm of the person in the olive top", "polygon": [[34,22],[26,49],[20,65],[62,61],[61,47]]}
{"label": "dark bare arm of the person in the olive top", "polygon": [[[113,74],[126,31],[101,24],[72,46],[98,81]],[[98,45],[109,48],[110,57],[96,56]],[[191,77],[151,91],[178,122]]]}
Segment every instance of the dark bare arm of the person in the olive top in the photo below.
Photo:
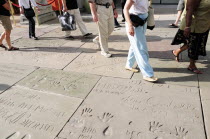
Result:
{"label": "dark bare arm of the person in the olive top", "polygon": [[197,10],[197,7],[200,5],[201,0],[188,0],[187,1],[187,13],[186,13],[186,27],[184,29],[184,35],[189,37],[190,35],[190,26],[192,24],[192,16],[194,12]]}

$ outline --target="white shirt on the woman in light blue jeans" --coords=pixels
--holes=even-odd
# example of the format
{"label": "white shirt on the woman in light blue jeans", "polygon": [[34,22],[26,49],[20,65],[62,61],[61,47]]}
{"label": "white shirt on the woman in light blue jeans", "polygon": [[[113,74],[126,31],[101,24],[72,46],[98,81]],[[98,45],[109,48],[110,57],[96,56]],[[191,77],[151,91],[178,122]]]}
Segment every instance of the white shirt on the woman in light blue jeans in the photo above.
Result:
{"label": "white shirt on the woman in light blue jeans", "polygon": [[138,15],[148,12],[149,1],[148,0],[132,0],[134,4],[131,6],[129,13]]}

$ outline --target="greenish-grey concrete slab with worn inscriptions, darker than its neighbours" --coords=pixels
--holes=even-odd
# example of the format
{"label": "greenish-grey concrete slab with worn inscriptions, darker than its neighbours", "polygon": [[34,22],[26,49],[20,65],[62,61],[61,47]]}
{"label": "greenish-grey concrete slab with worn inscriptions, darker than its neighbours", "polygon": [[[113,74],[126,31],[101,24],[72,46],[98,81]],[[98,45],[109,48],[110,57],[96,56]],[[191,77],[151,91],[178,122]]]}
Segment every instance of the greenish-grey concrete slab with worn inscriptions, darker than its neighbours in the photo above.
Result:
{"label": "greenish-grey concrete slab with worn inscriptions, darker than its neighbours", "polygon": [[18,85],[56,94],[85,98],[100,76],[61,70],[39,69]]}

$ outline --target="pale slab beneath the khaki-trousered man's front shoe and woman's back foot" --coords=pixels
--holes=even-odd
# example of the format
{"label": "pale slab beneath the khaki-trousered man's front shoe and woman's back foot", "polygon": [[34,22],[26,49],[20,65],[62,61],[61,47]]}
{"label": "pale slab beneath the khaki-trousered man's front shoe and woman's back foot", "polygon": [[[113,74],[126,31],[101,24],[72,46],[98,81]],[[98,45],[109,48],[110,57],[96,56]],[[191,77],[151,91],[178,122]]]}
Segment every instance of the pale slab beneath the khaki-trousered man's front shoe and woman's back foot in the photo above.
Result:
{"label": "pale slab beneath the khaki-trousered man's front shoe and woman's back foot", "polygon": [[111,77],[130,78],[132,72],[125,70],[125,62],[125,55],[113,55],[112,58],[105,58],[100,52],[82,53],[64,70]]}

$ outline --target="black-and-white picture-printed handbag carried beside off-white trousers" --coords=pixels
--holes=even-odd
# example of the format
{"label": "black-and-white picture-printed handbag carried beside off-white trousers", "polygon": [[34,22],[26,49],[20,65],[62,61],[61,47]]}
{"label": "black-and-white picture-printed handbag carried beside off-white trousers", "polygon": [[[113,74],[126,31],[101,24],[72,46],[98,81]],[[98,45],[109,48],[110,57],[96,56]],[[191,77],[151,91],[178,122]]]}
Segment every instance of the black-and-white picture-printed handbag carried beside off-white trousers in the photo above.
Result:
{"label": "black-and-white picture-printed handbag carried beside off-white trousers", "polygon": [[63,15],[58,16],[62,31],[76,30],[75,16],[65,12]]}

